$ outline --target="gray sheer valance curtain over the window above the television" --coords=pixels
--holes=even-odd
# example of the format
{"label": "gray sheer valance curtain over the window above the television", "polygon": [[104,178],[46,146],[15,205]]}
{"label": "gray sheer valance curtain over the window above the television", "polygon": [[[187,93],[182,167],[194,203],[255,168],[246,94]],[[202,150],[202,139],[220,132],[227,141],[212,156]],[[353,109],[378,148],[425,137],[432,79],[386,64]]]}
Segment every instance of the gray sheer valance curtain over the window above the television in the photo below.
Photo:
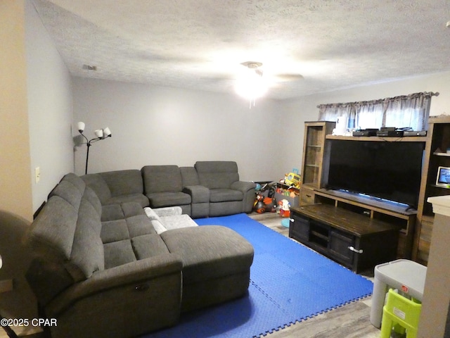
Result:
{"label": "gray sheer valance curtain over the window above the television", "polygon": [[380,127],[426,130],[431,97],[438,95],[439,93],[421,92],[373,101],[321,104],[317,108],[319,120],[335,121],[342,116],[347,119],[349,130]]}

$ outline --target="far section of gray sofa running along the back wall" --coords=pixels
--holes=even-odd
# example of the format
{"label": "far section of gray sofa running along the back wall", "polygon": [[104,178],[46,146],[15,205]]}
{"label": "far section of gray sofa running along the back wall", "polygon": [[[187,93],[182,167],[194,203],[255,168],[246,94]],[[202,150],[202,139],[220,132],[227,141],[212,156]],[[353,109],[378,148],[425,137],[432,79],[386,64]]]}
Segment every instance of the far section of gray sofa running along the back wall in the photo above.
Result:
{"label": "far section of gray sofa running along the back wall", "polygon": [[255,183],[239,180],[233,161],[198,161],[193,167],[146,165],[139,170],[88,174],[82,179],[103,206],[136,201],[142,207],[179,206],[192,218],[250,213]]}

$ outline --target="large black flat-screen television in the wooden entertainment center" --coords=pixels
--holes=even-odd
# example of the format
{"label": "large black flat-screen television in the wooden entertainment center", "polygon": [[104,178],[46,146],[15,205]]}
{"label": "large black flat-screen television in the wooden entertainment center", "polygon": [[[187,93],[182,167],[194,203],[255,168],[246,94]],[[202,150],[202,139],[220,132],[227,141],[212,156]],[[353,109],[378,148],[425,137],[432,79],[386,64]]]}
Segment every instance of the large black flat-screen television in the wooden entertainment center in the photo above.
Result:
{"label": "large black flat-screen television in the wooden entertainment center", "polygon": [[423,142],[330,140],[328,189],[417,208]]}

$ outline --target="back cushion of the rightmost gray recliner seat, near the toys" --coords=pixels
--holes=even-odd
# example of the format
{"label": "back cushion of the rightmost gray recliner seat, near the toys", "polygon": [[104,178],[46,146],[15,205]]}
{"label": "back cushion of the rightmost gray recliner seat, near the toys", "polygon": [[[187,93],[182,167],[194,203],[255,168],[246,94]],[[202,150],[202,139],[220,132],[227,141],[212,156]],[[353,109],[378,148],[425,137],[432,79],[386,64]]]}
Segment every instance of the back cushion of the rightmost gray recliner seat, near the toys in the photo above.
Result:
{"label": "back cushion of the rightmost gray recliner seat, near the toys", "polygon": [[197,161],[194,166],[200,184],[210,189],[229,189],[239,180],[238,165],[233,161]]}

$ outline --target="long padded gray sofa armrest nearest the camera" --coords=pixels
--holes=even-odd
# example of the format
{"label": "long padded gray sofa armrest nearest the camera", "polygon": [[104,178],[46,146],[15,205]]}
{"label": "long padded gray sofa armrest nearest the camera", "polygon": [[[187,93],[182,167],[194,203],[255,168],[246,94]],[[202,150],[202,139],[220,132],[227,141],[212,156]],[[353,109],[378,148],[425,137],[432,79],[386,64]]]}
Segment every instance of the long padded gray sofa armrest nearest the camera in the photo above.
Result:
{"label": "long padded gray sofa armrest nearest the camera", "polygon": [[46,314],[57,316],[77,301],[115,288],[131,287],[137,290],[139,287],[148,287],[151,289],[153,282],[158,287],[160,284],[158,279],[171,275],[178,277],[181,283],[182,268],[181,258],[174,253],[167,253],[98,271],[89,279],[74,284],[53,299],[46,307]]}

